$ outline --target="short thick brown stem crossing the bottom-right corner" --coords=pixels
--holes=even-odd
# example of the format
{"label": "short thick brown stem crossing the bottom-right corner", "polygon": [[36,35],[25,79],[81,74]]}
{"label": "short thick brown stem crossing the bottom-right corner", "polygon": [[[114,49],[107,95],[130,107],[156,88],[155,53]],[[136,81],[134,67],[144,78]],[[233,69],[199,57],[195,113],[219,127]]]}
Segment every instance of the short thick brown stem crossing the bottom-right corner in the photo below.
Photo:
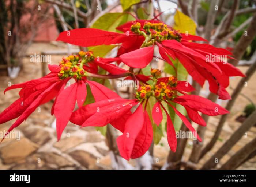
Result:
{"label": "short thick brown stem crossing the bottom-right corner", "polygon": [[234,170],[256,150],[256,138],[242,147],[231,158],[221,166],[220,170]]}

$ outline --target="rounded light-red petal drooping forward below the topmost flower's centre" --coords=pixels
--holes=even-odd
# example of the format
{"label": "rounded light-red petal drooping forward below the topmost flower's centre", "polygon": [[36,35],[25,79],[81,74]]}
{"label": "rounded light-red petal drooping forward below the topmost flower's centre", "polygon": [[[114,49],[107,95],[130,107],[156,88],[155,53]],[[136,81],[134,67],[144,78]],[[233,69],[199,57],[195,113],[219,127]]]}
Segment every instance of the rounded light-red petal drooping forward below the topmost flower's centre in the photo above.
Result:
{"label": "rounded light-red petal drooping forward below the topmost flower's centre", "polygon": [[124,64],[133,68],[144,68],[153,59],[154,46],[143,47],[135,51],[131,51],[120,55],[120,59]]}

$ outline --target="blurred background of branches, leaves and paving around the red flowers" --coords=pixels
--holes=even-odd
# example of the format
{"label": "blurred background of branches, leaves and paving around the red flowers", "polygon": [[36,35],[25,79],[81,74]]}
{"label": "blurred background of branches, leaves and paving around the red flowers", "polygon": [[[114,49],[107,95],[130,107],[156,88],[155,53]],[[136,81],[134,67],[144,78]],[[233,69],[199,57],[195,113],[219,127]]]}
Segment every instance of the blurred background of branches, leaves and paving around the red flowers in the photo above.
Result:
{"label": "blurred background of branches, leaves and paving around the red flowers", "polygon": [[[227,90],[232,101],[211,95],[207,83],[201,91],[193,83],[197,94],[231,113],[204,116],[207,127],[197,128],[202,143],[178,139],[174,154],[166,132],[155,129],[157,141],[150,150],[142,158],[127,162],[118,155],[115,138],[120,132],[111,126],[79,128],[69,122],[57,142],[55,118],[50,115],[53,102],[49,102],[13,130],[15,137],[0,144],[0,169],[256,169],[255,0],[0,0],[0,112],[19,98],[17,90],[4,95],[5,88],[44,76],[48,64],[58,64],[63,56],[87,50],[55,41],[60,32],[85,27],[116,31],[116,26],[134,20],[131,14],[139,19],[155,17],[173,26],[177,9],[195,22],[196,35],[232,51],[237,61],[229,62],[247,75],[243,79],[231,77]],[[97,25],[101,18],[110,25]],[[99,55],[115,56],[117,48],[112,49],[99,51]],[[161,60],[151,66],[166,68]],[[116,89],[116,82],[110,86]],[[131,92],[129,88],[119,90],[124,98]],[[1,124],[0,135],[14,122]],[[180,128],[187,131],[182,123],[176,130]]]}

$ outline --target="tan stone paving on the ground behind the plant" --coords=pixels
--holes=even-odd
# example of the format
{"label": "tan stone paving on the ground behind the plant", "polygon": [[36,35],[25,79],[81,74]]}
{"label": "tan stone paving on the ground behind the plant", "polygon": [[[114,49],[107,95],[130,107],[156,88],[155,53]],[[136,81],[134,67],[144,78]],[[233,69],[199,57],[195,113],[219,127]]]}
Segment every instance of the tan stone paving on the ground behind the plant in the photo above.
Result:
{"label": "tan stone paving on the ground behind the plant", "polygon": [[[34,54],[43,49],[60,49],[53,44],[33,44],[29,52]],[[36,51],[35,51],[36,50]],[[62,56],[52,56],[52,61],[56,63]],[[41,64],[29,62],[29,58],[24,59],[23,70],[19,77],[11,80],[8,77],[0,76],[0,112],[8,107],[16,98],[18,91],[11,90],[3,94],[8,82],[12,84],[21,83],[41,76]],[[242,69],[244,72],[246,69]],[[254,75],[251,80],[256,80]],[[235,85],[238,79],[231,80]],[[250,88],[245,88],[244,93],[252,93],[251,99],[256,102],[256,85],[248,83]],[[204,158],[198,166],[222,146],[223,142],[240,126],[234,119],[240,115],[241,108],[248,103],[242,97],[239,97],[235,108],[231,111],[231,117],[225,123],[221,137],[217,144]],[[54,122],[54,116],[50,115],[52,103],[46,103],[40,106],[14,131],[20,133],[20,140],[5,139],[0,144],[0,169],[111,169],[111,160],[109,149],[105,142],[105,137],[94,127],[79,128],[69,123],[65,128],[61,140],[57,142],[56,130],[51,124]],[[218,124],[219,117],[210,118],[207,125],[206,139],[208,142],[214,134]],[[6,131],[15,120],[0,125],[0,132]],[[256,127],[252,127],[248,132],[248,137],[243,137],[232,150],[221,160],[221,163],[227,161],[242,146],[248,143],[256,135]],[[183,160],[188,160],[192,148],[192,140],[188,140]],[[158,160],[155,165],[161,168],[166,161],[169,152],[167,138],[163,137],[160,144],[154,146],[154,160]],[[131,161],[130,163],[133,163]],[[256,169],[256,158],[252,158],[244,163],[239,169]]]}

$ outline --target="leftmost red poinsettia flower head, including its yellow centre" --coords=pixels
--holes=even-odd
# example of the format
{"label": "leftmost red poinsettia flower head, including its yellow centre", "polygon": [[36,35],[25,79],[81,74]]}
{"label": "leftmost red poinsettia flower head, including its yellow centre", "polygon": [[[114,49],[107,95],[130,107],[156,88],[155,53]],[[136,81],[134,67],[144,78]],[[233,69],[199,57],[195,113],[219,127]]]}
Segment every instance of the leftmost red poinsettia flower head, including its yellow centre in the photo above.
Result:
{"label": "leftmost red poinsettia flower head, including its yellow centre", "polygon": [[[40,79],[31,80],[21,84],[15,84],[5,89],[22,88],[19,92],[20,98],[12,103],[0,114],[0,124],[19,117],[8,129],[19,126],[39,105],[44,104],[56,97],[52,106],[52,115],[56,116],[57,139],[59,140],[69,118],[74,110],[75,103],[82,107],[85,102],[87,91],[86,83],[89,84],[95,101],[119,97],[115,92],[103,85],[86,80],[89,72],[97,73],[100,67],[109,72],[124,73],[125,70],[112,64],[116,59],[94,59],[92,52],[80,51],[79,55],[70,55],[58,65],[48,65],[50,73]],[[92,68],[95,67],[96,68]],[[73,77],[75,83],[64,89],[68,80]]]}

